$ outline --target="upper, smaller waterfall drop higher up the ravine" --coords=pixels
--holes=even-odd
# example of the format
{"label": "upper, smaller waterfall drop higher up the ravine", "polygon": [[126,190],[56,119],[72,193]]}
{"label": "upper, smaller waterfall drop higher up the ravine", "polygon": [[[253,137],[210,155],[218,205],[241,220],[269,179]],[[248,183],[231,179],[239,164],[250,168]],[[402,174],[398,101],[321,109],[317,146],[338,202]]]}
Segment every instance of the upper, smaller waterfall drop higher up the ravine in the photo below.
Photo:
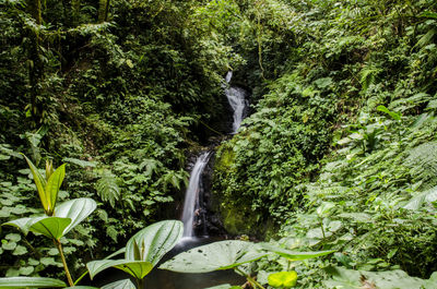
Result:
{"label": "upper, smaller waterfall drop higher up the ravine", "polygon": [[[226,82],[229,83],[233,76],[233,72],[229,71],[226,74]],[[240,87],[229,86],[225,89],[225,95],[227,97],[227,101],[231,105],[231,108],[234,111],[233,115],[233,131],[231,134],[237,133],[241,121],[246,117],[246,107],[247,107],[247,92]]]}

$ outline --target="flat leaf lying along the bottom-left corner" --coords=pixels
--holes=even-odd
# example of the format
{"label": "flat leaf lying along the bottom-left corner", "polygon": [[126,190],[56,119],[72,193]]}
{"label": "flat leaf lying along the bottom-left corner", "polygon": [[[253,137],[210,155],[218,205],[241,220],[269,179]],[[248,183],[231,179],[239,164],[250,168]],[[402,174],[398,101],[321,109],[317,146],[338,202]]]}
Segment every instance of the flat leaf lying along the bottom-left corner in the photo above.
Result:
{"label": "flat leaf lying along the bottom-left corner", "polygon": [[11,277],[0,278],[0,288],[52,288],[66,287],[61,280],[43,277]]}

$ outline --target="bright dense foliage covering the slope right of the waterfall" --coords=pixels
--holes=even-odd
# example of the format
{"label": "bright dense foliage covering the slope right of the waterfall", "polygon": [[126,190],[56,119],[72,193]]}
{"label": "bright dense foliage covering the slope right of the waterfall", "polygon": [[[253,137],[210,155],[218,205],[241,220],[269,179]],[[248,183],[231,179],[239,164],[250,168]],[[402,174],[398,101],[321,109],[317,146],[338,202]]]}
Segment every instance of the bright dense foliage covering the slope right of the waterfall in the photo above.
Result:
{"label": "bright dense foliage covering the slope right of the waterfall", "polygon": [[[281,16],[267,11],[284,3],[259,2],[272,40],[262,45],[255,113],[218,150],[225,226],[259,236],[281,228],[287,248],[339,250],[295,268],[303,288],[321,287],[317,268],[330,264],[429,277],[437,268],[434,1],[287,1]],[[286,28],[285,17],[293,19]],[[262,74],[259,63],[248,65]],[[251,221],[238,221],[238,212]]]}

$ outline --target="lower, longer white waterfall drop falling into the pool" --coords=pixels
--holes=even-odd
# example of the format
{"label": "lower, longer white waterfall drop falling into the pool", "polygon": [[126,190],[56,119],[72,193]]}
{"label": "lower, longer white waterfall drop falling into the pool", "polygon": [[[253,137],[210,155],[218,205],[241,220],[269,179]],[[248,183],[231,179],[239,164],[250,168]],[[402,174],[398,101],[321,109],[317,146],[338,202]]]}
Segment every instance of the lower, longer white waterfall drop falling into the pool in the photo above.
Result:
{"label": "lower, longer white waterfall drop falling into the pool", "polygon": [[210,160],[211,152],[202,153],[196,160],[185,194],[182,221],[184,237],[193,237],[194,216],[200,215],[199,193],[202,190],[202,172]]}

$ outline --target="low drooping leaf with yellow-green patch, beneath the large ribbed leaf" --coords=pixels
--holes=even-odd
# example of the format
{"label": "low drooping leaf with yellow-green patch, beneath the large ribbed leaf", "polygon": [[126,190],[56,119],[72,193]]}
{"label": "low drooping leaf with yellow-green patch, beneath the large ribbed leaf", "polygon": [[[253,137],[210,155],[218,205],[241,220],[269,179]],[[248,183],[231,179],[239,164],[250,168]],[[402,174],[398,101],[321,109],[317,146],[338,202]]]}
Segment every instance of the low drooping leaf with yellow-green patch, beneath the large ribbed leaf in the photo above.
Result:
{"label": "low drooping leaf with yellow-green patch, beneath the large ribbed leaf", "polygon": [[132,260],[98,260],[87,263],[86,267],[92,279],[109,267],[121,269],[138,279],[142,279],[152,270],[153,265],[149,262]]}

